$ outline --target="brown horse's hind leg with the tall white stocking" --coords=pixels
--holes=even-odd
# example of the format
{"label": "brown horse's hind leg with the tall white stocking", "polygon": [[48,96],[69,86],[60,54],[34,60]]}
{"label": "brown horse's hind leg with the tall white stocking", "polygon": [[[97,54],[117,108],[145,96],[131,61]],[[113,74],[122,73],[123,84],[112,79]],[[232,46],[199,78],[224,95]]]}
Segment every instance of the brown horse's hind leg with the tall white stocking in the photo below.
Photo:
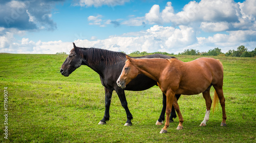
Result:
{"label": "brown horse's hind leg with the tall white stocking", "polygon": [[206,122],[209,120],[209,115],[210,115],[210,107],[211,107],[211,98],[210,98],[210,87],[203,92],[203,97],[205,99],[206,103],[206,112],[205,112],[205,117],[204,121],[200,124],[200,126],[206,126]]}

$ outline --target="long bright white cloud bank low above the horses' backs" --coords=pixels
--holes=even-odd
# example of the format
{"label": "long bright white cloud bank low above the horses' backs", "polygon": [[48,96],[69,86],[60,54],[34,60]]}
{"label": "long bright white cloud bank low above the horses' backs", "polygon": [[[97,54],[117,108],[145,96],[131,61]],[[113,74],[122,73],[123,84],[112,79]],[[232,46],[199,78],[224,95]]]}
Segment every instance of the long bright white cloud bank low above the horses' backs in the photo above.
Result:
{"label": "long bright white cloud bank low above the horses' backs", "polygon": [[146,31],[138,33],[128,33],[123,36],[113,36],[104,40],[76,40],[77,45],[86,45],[86,47],[99,47],[114,51],[124,51],[131,53],[133,51],[167,51],[181,52],[184,46],[197,42],[193,28],[180,26],[163,27],[154,25]]}

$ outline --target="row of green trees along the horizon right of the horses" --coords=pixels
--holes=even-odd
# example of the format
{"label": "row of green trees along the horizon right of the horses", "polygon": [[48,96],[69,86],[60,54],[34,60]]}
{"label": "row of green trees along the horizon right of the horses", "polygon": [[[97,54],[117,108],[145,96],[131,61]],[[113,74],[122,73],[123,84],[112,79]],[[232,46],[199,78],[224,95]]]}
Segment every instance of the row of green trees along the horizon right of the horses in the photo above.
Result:
{"label": "row of green trees along the horizon right of the horses", "polygon": [[[134,51],[131,54],[142,54],[142,55],[147,55],[147,54],[155,54],[155,53],[160,53],[160,54],[169,54],[169,55],[174,55],[174,53],[167,53],[167,52],[152,52],[148,53],[146,51]],[[199,50],[196,49],[185,49],[183,52],[179,52],[178,55],[219,55],[219,56],[236,56],[236,57],[254,57],[256,56],[256,48],[252,51],[248,51],[248,49],[241,45],[237,48],[237,50],[228,50],[226,53],[221,52],[220,48],[214,48],[210,49],[207,52],[200,52]]]}

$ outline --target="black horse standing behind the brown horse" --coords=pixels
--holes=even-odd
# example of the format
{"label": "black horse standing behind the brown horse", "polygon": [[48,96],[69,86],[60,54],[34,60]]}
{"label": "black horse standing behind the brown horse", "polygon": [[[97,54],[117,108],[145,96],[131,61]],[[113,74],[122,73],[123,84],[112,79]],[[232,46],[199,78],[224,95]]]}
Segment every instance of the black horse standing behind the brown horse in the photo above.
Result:
{"label": "black horse standing behind the brown horse", "polygon": [[[133,116],[127,106],[124,90],[128,91],[143,91],[157,85],[157,82],[143,74],[139,74],[135,79],[133,79],[129,84],[127,84],[125,89],[118,87],[116,80],[121,74],[122,68],[125,64],[126,58],[122,52],[114,52],[110,50],[98,49],[98,48],[81,48],[76,47],[73,43],[74,48],[70,51],[68,58],[62,64],[60,73],[64,76],[69,76],[75,69],[79,68],[81,65],[86,65],[97,72],[100,76],[101,84],[105,88],[105,113],[99,124],[106,124],[106,121],[110,119],[110,103],[112,98],[112,93],[115,90],[121,105],[125,109],[127,115],[127,121],[124,126],[131,126]],[[153,54],[140,56],[136,58],[163,58],[170,59],[175,57],[170,57],[162,54]],[[180,95],[176,95],[177,100]],[[176,118],[174,107],[172,108],[172,113],[170,116],[171,122],[173,118]],[[161,125],[164,121],[164,115],[166,110],[166,96],[163,94],[163,108],[161,115],[157,121],[157,125]]]}

